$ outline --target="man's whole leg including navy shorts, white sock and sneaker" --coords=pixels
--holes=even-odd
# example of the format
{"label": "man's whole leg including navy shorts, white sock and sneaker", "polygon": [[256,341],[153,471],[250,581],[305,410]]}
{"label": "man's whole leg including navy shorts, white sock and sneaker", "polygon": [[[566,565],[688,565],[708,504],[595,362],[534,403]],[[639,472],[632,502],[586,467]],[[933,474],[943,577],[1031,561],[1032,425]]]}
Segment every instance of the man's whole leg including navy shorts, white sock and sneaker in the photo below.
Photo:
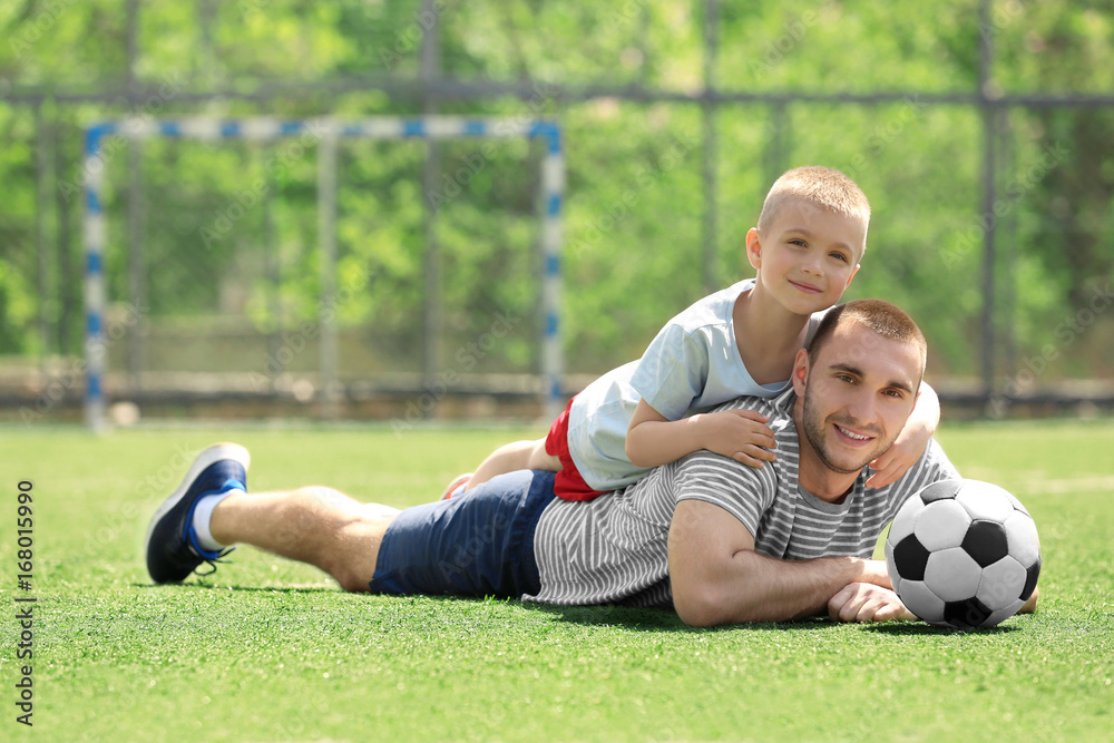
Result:
{"label": "man's whole leg including navy shorts, white sock and sneaker", "polygon": [[539,589],[534,531],[555,498],[553,473],[515,472],[468,498],[399,511],[324,487],[247,495],[250,463],[247,450],[234,443],[198,454],[148,526],[155,583],[179,583],[243,542],[314,565],[353,592],[521,596]]}

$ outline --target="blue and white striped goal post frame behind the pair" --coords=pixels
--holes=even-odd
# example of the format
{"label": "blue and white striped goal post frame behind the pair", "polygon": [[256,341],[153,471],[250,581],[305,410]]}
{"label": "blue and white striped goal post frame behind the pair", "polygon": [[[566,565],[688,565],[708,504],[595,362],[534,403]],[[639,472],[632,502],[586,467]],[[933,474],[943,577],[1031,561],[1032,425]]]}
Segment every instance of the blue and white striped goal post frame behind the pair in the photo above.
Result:
{"label": "blue and white striped goal post frame behind the pair", "polygon": [[[543,405],[548,418],[564,408],[560,348],[560,246],[565,189],[565,157],[560,127],[530,118],[470,118],[462,116],[369,117],[339,119],[319,117],[286,120],[272,117],[221,119],[187,117],[156,120],[131,117],[99,121],[85,129],[85,365],[86,423],[94,431],[106,428],[107,342],[104,322],[107,289],[105,248],[108,239],[102,189],[108,156],[130,140],[164,137],[227,141],[271,141],[310,136],[317,144],[317,250],[321,253],[322,299],[336,285],[336,144],[340,139],[460,139],[527,138],[545,143],[540,177],[540,247],[543,255],[540,307]],[[109,149],[111,148],[111,149]],[[338,380],[338,327],[335,313],[325,313],[319,334],[320,374],[324,410],[335,405]]]}

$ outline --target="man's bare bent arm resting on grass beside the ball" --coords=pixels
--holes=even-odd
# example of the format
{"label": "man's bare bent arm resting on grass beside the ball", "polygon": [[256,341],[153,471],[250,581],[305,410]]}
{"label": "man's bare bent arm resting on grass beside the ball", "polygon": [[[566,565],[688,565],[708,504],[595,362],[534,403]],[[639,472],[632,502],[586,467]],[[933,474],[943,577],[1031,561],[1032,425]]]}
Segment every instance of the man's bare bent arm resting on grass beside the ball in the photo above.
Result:
{"label": "man's bare bent arm resting on grass beside the ball", "polygon": [[[677,615],[694,626],[798,619],[829,610],[829,600],[851,584],[890,588],[881,560],[780,560],[760,555],[739,519],[702,500],[682,500],[674,510],[670,579]],[[858,612],[856,618],[901,616],[897,607],[905,607],[892,590],[887,593],[892,598],[876,602],[866,619]]]}

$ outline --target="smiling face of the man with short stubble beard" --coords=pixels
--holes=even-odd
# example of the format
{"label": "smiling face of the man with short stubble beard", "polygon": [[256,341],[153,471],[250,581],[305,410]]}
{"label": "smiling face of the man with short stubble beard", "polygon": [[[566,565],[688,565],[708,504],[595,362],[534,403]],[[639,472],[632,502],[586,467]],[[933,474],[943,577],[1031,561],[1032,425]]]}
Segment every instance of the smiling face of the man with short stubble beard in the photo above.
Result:
{"label": "smiling face of the man with short stubble beard", "polygon": [[885,339],[859,323],[809,360],[803,382],[804,434],[821,463],[850,475],[877,459],[905,427],[917,400],[922,361],[913,343]]}

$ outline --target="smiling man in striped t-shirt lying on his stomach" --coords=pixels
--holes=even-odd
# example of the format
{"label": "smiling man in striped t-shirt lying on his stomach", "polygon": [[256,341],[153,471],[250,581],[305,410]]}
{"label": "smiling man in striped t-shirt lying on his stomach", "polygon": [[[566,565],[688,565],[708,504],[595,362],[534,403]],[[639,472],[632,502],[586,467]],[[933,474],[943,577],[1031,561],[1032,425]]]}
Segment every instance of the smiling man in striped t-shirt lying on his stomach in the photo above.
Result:
{"label": "smiling man in striped t-shirt lying on his stomach", "polygon": [[868,490],[867,462],[913,409],[926,343],[897,307],[832,310],[778,398],[761,469],[698,451],[607,498],[555,498],[551,472],[500,476],[399,511],[335,490],[246,493],[247,451],[209,447],[152,519],[147,567],[178,581],[246,542],[315,565],[345,590],[496,595],[553,604],[672,606],[691,625],[912,618],[869,559],[907,497],[959,477],[931,441],[903,477]]}

